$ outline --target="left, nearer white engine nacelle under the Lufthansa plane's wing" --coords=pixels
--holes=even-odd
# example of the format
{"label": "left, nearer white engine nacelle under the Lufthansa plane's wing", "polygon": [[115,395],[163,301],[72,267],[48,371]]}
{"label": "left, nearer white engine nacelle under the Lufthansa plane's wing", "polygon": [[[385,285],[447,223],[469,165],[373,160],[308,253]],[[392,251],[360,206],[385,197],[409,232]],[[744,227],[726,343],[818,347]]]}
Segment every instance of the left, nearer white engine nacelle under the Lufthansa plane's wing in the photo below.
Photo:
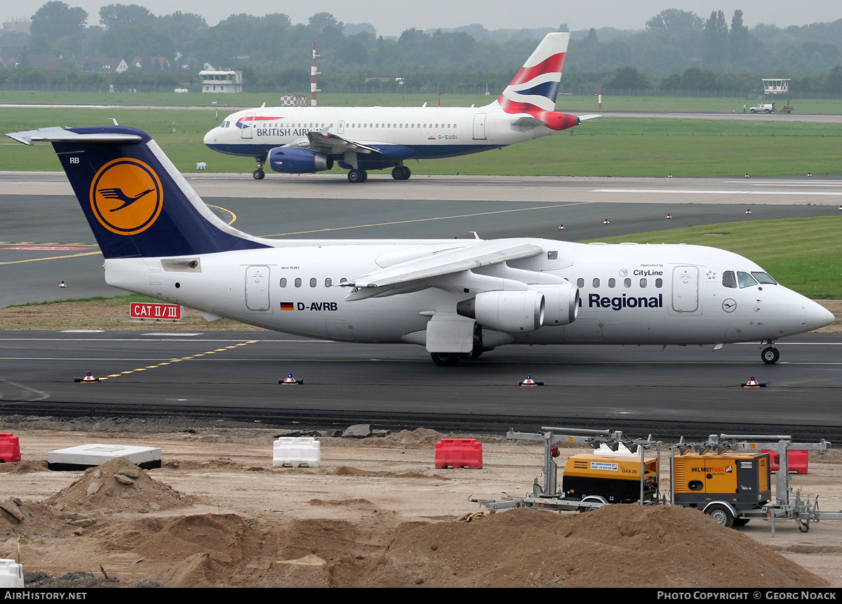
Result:
{"label": "left, nearer white engine nacelle under the Lufthansa plane's wing", "polygon": [[541,291],[483,291],[460,302],[456,312],[477,319],[482,327],[518,333],[541,329],[544,304]]}

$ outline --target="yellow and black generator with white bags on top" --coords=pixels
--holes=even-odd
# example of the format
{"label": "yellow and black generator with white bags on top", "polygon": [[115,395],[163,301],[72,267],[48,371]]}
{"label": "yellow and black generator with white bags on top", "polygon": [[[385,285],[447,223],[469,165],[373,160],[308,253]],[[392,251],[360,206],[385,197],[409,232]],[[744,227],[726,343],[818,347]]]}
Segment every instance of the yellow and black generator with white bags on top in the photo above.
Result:
{"label": "yellow and black generator with white bags on top", "polygon": [[634,503],[641,501],[641,491],[642,501],[658,498],[658,457],[641,459],[622,445],[618,452],[602,446],[573,455],[564,467],[562,495],[567,499]]}

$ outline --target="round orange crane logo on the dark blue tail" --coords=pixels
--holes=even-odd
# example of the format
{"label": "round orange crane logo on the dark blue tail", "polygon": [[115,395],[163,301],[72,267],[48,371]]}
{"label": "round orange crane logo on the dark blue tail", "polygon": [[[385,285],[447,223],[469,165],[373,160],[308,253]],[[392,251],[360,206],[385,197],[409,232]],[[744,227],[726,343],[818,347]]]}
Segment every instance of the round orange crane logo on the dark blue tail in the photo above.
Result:
{"label": "round orange crane logo on the dark blue tail", "polygon": [[152,168],[137,159],[115,159],[99,168],[93,177],[93,216],[111,233],[143,233],[157,220],[162,206],[161,180]]}

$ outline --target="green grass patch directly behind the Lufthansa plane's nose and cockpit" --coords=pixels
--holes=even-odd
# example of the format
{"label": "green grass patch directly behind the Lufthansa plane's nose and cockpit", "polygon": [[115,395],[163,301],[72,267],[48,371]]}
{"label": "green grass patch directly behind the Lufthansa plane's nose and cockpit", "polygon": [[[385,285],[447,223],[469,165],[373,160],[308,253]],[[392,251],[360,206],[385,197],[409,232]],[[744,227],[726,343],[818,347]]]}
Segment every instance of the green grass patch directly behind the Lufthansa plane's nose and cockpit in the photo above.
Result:
{"label": "green grass patch directly behind the Lufthansa plane's nose and cockpit", "polygon": [[600,239],[694,243],[754,260],[776,281],[811,298],[842,299],[842,216],[727,222]]}

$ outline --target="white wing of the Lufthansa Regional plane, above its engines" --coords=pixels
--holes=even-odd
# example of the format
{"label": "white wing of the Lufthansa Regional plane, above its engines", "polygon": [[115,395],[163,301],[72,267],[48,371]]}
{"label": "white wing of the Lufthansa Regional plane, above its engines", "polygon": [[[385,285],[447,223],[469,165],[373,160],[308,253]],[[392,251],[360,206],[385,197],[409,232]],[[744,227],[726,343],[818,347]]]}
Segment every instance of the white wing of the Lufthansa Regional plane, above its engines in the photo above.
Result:
{"label": "white wing of the Lufthansa Regional plane, above its engines", "polygon": [[509,260],[531,258],[541,254],[542,251],[540,246],[532,243],[497,240],[481,241],[457,249],[436,252],[362,275],[354,282],[344,283],[344,286],[354,287],[345,296],[345,300],[350,302],[375,296],[418,291],[430,287],[429,280],[435,277],[477,269],[481,266],[498,265]]}

